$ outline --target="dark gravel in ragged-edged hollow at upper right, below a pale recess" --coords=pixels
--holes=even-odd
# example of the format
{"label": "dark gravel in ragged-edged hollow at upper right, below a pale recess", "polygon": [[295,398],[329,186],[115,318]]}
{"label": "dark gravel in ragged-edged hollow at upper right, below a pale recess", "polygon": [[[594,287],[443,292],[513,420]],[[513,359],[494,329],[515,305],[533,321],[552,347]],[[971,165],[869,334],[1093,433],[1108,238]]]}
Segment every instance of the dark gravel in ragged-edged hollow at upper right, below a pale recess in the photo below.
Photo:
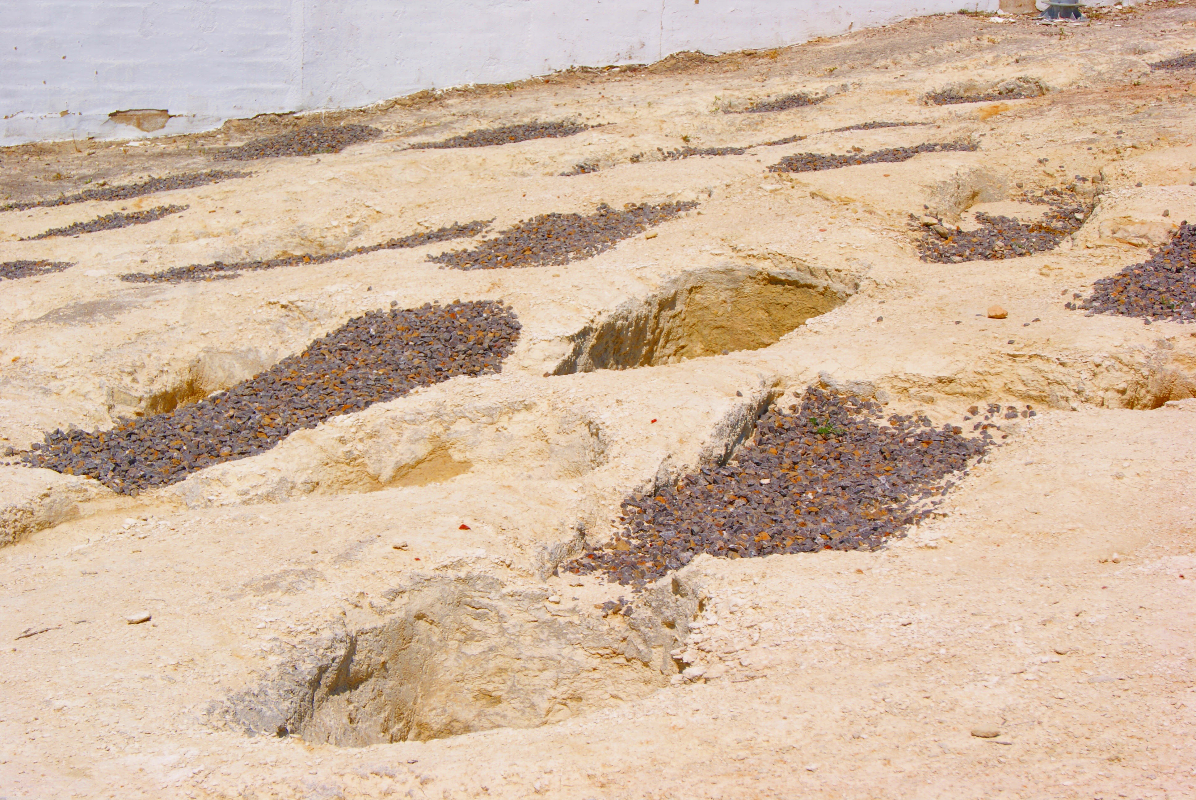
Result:
{"label": "dark gravel in ragged-edged hollow at upper right, below a pale recess", "polygon": [[[982,227],[975,231],[944,228],[946,236],[942,231],[935,233],[934,230],[919,225],[917,218],[910,215],[911,227],[920,231],[916,245],[922,261],[938,263],[994,261],[1054,250],[1063,237],[1080,230],[1084,219],[1087,219],[1092,210],[1091,203],[1086,200],[1075,193],[1061,189],[1048,189],[1042,195],[1021,200],[1048,203],[1051,209],[1033,222],[980,213],[976,214],[976,221]],[[1076,214],[1082,219],[1076,219]]]}

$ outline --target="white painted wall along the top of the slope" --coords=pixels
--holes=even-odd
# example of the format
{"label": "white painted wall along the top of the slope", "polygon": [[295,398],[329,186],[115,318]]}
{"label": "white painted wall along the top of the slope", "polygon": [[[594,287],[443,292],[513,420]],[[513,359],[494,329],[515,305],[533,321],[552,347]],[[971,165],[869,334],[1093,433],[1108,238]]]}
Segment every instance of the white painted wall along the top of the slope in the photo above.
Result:
{"label": "white painted wall along the top of the slope", "polygon": [[999,0],[0,0],[0,145],[139,138],[575,65],[832,36]]}

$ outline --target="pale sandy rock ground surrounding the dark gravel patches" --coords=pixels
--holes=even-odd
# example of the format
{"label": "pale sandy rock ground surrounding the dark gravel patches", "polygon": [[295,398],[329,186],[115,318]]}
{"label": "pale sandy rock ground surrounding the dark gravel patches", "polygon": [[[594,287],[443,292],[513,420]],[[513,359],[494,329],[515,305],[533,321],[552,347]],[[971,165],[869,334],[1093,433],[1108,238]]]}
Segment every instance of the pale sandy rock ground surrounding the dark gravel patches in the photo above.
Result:
{"label": "pale sandy rock ground surrounding the dark gravel patches", "polygon": [[[1196,71],[1149,67],[1192,50],[1191,4],[936,17],[0,151],[12,202],[222,167],[212,148],[297,126],[384,132],[208,187],[0,213],[0,262],[75,264],[2,282],[0,447],[194,402],[391,301],[502,299],[523,324],[501,374],[138,496],[0,465],[0,796],[1196,796],[1196,331],[1064,307],[1196,220]],[[1019,79],[1043,93],[923,99]],[[734,112],[792,92],[829,97]],[[407,148],[554,120],[594,127]],[[916,124],[837,130],[878,121]],[[978,148],[767,171],[925,142]],[[582,163],[599,169],[561,175]],[[1032,219],[1019,195],[1049,188],[1091,207],[1058,248],[919,258],[911,214]],[[698,204],[563,267],[427,261],[465,242],[120,280],[678,200]],[[167,203],[188,208],[22,240]],[[634,597],[559,569],[612,536],[623,499],[733,457],[810,385],[938,425],[989,402],[1036,416],[874,552],[700,556]],[[634,613],[603,616],[618,598]]]}

